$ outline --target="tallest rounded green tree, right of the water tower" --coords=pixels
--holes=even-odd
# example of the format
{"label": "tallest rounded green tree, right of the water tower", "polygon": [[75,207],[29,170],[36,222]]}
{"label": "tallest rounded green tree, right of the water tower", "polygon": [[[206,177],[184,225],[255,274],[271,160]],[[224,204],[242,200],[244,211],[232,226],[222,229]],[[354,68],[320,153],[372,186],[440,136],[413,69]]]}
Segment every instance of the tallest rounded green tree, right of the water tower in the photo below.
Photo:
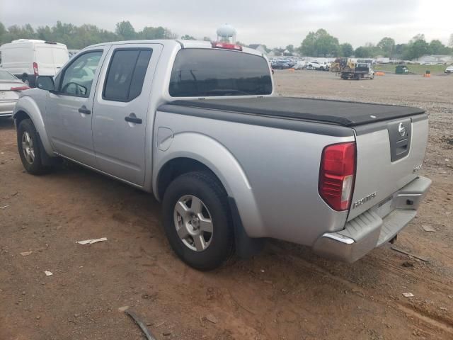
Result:
{"label": "tallest rounded green tree, right of the water tower", "polygon": [[320,28],[316,32],[306,35],[299,47],[302,55],[311,57],[334,56],[338,53],[338,39],[328,34],[326,30]]}

